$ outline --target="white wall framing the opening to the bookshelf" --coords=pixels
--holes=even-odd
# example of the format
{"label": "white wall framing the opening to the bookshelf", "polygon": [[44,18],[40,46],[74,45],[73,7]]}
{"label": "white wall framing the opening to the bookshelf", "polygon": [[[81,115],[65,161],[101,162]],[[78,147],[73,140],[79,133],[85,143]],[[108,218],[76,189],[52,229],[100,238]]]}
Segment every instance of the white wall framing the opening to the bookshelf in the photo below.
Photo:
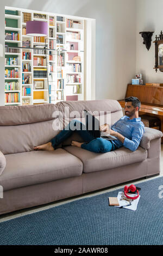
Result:
{"label": "white wall framing the opening to the bookshelf", "polygon": [[[124,98],[135,75],[135,0],[1,0],[1,25],[5,5],[96,19],[96,99]],[[0,44],[4,45],[4,26]],[[4,105],[4,58],[0,79],[0,105]]]}

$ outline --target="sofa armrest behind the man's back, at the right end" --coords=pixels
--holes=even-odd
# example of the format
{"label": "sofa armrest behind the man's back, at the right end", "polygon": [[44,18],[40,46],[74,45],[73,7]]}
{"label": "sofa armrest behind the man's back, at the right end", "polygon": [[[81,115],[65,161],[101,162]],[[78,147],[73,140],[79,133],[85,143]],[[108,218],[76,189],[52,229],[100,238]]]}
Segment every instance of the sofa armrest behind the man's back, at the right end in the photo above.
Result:
{"label": "sofa armrest behind the man's back, at the right end", "polygon": [[162,137],[162,132],[156,129],[145,127],[145,132],[143,134],[143,137],[141,139],[140,146],[144,149],[150,148],[150,141],[152,139],[158,139]]}

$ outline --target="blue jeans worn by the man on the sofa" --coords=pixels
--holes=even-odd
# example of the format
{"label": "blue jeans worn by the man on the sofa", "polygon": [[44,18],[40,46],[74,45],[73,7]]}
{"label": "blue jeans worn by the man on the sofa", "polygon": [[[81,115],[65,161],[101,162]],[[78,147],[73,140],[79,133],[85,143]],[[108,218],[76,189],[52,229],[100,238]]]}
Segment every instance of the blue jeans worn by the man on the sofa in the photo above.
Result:
{"label": "blue jeans worn by the man on the sofa", "polygon": [[55,149],[57,145],[65,141],[70,137],[74,131],[83,138],[86,143],[81,145],[81,148],[95,152],[95,153],[106,153],[115,150],[116,147],[111,141],[107,141],[103,138],[95,138],[91,135],[89,130],[86,130],[86,126],[78,120],[72,120],[64,130],[62,130],[57,136],[51,139],[52,146]]}

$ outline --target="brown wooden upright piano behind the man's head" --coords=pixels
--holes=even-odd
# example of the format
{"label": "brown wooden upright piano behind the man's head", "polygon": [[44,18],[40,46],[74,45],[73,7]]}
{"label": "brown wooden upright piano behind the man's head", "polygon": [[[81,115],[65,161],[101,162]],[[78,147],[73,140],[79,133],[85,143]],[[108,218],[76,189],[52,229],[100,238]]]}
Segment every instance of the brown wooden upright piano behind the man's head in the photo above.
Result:
{"label": "brown wooden upright piano behind the man's head", "polygon": [[[129,96],[135,96],[141,101],[140,116],[142,114],[148,114],[151,117],[160,119],[160,130],[163,132],[163,87],[128,84],[126,97]],[[119,100],[118,102],[121,104],[121,107],[124,108],[125,101]]]}

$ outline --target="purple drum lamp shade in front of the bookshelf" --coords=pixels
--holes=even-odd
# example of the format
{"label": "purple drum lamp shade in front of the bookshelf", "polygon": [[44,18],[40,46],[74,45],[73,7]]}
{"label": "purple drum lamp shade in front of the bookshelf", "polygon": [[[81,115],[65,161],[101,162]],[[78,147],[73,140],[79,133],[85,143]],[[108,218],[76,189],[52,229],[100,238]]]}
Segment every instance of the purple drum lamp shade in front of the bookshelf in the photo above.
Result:
{"label": "purple drum lamp shade in front of the bookshelf", "polygon": [[27,21],[26,34],[30,36],[46,36],[48,34],[48,23],[45,21]]}

